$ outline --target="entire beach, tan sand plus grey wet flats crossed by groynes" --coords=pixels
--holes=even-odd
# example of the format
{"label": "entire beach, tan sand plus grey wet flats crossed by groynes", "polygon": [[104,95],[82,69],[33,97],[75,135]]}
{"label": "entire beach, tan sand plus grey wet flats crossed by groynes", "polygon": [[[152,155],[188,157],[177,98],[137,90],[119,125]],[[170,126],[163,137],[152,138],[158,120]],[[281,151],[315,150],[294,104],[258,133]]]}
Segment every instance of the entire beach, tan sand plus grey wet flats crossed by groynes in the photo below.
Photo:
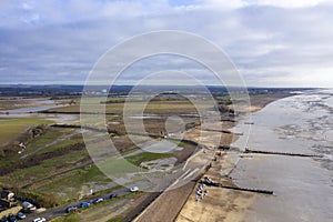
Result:
{"label": "entire beach, tan sand plus grey wet flats crossed by groynes", "polygon": [[[253,117],[236,124],[234,131],[244,134],[231,144],[241,151],[323,158],[224,152],[201,181],[209,176],[224,185],[270,190],[273,195],[205,186],[208,194],[198,201],[198,183],[176,221],[332,221],[331,98],[331,92],[313,91],[255,109]],[[286,105],[293,109],[286,111]],[[249,134],[246,122],[253,123]]]}

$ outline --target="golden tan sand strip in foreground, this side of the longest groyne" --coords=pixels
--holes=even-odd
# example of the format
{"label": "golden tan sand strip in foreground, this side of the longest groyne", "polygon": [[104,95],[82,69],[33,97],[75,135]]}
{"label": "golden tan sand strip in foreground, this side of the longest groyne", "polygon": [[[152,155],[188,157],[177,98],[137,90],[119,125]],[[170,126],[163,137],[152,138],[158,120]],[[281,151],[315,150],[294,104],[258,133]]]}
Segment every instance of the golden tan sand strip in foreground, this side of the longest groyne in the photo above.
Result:
{"label": "golden tan sand strip in foreground, this side of the longest groyne", "polygon": [[[229,160],[235,157],[230,155],[233,154],[224,153],[223,157],[214,161],[212,168],[209,169],[203,178],[209,176],[214,182],[234,186],[234,183],[229,178],[230,172],[234,169],[234,164]],[[176,221],[244,221],[245,210],[254,203],[256,195],[259,195],[223,188],[204,186],[203,190],[208,191],[208,193],[198,200],[198,186],[199,183],[189,196]]]}

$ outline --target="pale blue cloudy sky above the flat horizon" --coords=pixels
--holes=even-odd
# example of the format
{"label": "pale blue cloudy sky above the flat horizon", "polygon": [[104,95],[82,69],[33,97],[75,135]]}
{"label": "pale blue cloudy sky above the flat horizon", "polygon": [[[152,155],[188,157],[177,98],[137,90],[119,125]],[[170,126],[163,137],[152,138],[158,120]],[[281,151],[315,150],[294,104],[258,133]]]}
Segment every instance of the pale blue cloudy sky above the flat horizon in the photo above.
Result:
{"label": "pale blue cloudy sky above the flat horizon", "polygon": [[[332,0],[1,0],[0,84],[83,84],[110,48],[178,30],[216,44],[249,87],[333,88],[332,12]],[[145,63],[214,84],[200,65],[158,59]]]}

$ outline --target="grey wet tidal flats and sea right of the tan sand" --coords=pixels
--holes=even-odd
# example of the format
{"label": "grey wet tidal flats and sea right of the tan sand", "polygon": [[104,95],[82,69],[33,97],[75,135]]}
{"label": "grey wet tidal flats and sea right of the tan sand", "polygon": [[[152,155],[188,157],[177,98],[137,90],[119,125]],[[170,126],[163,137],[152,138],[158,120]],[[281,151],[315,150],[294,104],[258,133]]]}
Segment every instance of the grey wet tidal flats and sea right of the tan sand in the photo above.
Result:
{"label": "grey wet tidal flats and sea right of the tan sand", "polygon": [[232,144],[242,150],[321,155],[239,158],[231,174],[239,186],[274,192],[259,194],[245,221],[333,221],[333,90],[274,101],[240,121],[235,131],[244,132]]}

